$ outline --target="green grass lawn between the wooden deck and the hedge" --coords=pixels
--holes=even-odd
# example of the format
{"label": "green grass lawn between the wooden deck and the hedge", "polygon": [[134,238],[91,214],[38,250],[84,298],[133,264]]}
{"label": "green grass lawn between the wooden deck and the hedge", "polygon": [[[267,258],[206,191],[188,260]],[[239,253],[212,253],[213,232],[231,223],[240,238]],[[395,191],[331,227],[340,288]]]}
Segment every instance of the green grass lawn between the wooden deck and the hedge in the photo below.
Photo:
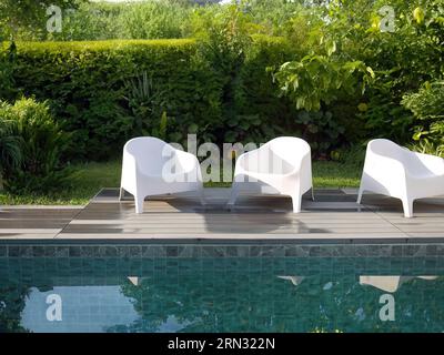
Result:
{"label": "green grass lawn between the wooden deck and the hedge", "polygon": [[[0,204],[43,204],[43,205],[83,205],[102,187],[120,185],[121,163],[83,163],[74,166],[75,176],[71,189],[64,189],[46,195],[10,195],[0,192]],[[360,184],[361,170],[337,162],[314,162],[313,178],[315,187],[356,187]],[[226,183],[211,183],[209,186],[224,186]]]}

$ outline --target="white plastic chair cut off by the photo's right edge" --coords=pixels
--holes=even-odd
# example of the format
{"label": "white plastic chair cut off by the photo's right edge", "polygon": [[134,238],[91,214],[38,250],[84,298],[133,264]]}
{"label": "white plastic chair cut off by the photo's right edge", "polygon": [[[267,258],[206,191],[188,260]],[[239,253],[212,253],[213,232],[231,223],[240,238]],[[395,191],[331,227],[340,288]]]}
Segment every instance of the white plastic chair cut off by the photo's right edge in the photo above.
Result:
{"label": "white plastic chair cut off by the photo's right edge", "polygon": [[444,159],[373,140],[367,145],[357,203],[364,191],[402,200],[405,217],[413,217],[415,200],[444,194]]}

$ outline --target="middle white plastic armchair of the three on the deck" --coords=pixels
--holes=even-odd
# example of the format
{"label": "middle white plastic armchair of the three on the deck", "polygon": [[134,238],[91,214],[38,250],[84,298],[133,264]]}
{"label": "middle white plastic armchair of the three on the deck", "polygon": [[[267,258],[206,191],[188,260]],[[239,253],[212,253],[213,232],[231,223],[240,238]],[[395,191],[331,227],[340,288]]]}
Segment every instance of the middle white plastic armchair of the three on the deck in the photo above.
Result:
{"label": "middle white plastic armchair of the three on the deck", "polygon": [[289,195],[293,200],[293,212],[300,213],[302,195],[312,190],[313,196],[309,143],[299,138],[282,136],[242,154],[235,164],[228,205],[233,206],[240,192],[249,189],[260,193]]}

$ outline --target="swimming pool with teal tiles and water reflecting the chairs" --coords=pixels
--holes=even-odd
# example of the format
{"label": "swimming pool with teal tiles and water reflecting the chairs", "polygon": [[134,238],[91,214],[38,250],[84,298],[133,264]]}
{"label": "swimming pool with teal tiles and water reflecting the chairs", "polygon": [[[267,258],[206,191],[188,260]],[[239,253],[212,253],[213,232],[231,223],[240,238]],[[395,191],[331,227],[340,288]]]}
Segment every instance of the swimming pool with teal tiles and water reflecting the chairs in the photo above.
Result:
{"label": "swimming pool with teal tiles and water reflecting the chairs", "polygon": [[442,332],[444,244],[1,244],[0,331]]}

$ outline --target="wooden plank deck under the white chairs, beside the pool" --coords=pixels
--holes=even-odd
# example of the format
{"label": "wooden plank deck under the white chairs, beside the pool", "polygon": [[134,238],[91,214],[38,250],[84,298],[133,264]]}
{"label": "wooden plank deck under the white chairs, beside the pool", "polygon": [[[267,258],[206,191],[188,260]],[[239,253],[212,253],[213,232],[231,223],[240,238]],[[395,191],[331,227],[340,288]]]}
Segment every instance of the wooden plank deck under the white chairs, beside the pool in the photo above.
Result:
{"label": "wooden plank deck under the white chairs, beside the pool", "polygon": [[208,189],[206,206],[192,194],[145,202],[137,215],[131,199],[101,191],[84,207],[3,206],[0,241],[44,242],[299,242],[299,243],[427,243],[444,241],[444,199],[415,203],[415,217],[404,219],[401,202],[355,190],[320,190],[309,196],[301,214],[281,196],[241,196],[228,211],[230,190]]}

